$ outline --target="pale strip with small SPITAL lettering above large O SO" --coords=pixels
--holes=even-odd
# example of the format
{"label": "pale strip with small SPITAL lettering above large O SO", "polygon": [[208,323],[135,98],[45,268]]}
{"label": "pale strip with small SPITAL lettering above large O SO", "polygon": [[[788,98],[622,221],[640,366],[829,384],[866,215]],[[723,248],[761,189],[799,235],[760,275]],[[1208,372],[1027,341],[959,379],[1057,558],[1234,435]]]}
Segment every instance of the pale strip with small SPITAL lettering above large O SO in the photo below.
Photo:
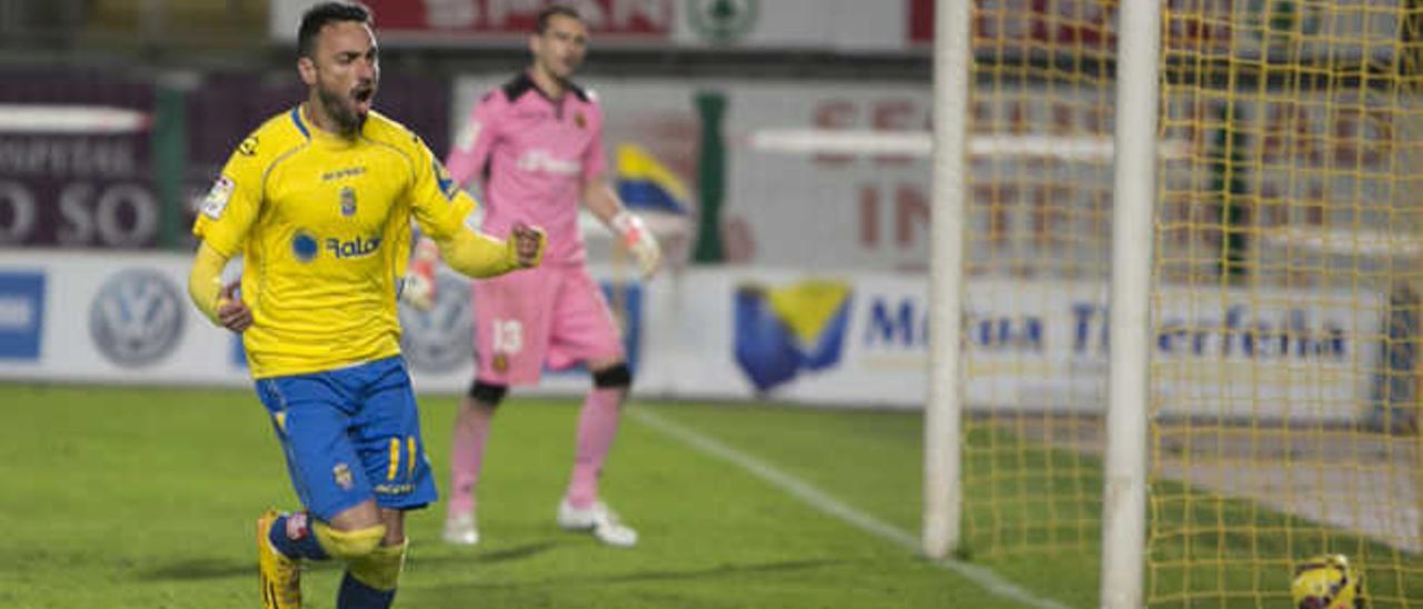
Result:
{"label": "pale strip with small SPITAL lettering above large O SO", "polygon": [[138,171],[132,145],[97,138],[0,138],[0,174],[127,178]]}

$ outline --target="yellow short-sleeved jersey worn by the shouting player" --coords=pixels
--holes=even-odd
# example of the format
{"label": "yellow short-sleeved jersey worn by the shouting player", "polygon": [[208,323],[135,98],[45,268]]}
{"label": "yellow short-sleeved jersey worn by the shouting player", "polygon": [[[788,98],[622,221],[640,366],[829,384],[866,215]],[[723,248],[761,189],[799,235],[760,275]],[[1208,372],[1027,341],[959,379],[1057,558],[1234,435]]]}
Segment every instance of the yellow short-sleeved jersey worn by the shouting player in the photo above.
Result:
{"label": "yellow short-sleeved jersey worn by the shouting player", "polygon": [[357,137],[342,138],[302,108],[242,141],[192,228],[223,256],[243,256],[253,378],[398,354],[411,218],[447,239],[477,205],[398,122],[370,112]]}

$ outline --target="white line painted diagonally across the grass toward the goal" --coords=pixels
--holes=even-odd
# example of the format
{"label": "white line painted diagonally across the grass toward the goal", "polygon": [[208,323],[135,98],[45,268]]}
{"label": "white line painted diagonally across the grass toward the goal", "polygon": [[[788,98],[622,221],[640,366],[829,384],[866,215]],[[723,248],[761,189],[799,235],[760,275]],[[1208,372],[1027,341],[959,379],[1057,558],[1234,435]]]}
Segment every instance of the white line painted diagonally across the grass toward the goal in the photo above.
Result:
{"label": "white line painted diagonally across the grass toward the goal", "polygon": [[[805,481],[795,478],[794,475],[785,474],[770,464],[766,464],[756,457],[721,444],[713,438],[702,435],[687,427],[672,423],[663,417],[652,414],[643,408],[629,408],[628,414],[638,423],[657,430],[666,435],[680,440],[683,444],[702,451],[703,454],[717,457],[723,461],[729,461],[734,465],[741,467],[751,475],[770,482],[773,487],[788,492],[791,497],[801,499],[811,508],[821,511],[827,515],[835,517],[861,531],[875,535],[881,539],[894,542],[895,545],[905,548],[912,552],[919,551],[918,539],[885,521],[871,517],[859,509],[845,505],[842,501],[831,497],[825,491],[811,487]],[[1026,606],[1042,608],[1042,609],[1067,609],[1066,605],[1059,603],[1053,599],[1037,596],[1007,579],[998,576],[992,571],[979,566],[969,565],[961,561],[931,561],[933,565],[949,569],[959,573],[973,583],[978,583],[985,591],[989,591],[995,596],[1000,596],[1010,600],[1017,600]]]}

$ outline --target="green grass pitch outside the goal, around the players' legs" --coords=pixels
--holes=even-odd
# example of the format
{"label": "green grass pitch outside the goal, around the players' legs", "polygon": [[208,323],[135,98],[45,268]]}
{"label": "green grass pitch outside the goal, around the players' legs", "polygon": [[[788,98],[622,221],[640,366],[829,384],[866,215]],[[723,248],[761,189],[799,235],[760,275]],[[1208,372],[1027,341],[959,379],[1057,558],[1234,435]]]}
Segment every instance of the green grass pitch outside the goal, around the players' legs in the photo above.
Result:
{"label": "green grass pitch outside the goal, around the players' legs", "polygon": [[[441,492],[454,406],[421,400]],[[250,391],[11,383],[0,408],[0,606],[259,605],[253,521],[296,499]],[[602,491],[642,541],[613,549],[554,522],[576,408],[507,401],[481,482],[481,544],[440,542],[444,504],[413,512],[396,606],[1023,606],[636,417],[653,413],[916,536],[918,413],[636,400]],[[1093,554],[973,561],[1039,600],[1096,605]],[[313,566],[306,606],[332,608],[339,576]]]}

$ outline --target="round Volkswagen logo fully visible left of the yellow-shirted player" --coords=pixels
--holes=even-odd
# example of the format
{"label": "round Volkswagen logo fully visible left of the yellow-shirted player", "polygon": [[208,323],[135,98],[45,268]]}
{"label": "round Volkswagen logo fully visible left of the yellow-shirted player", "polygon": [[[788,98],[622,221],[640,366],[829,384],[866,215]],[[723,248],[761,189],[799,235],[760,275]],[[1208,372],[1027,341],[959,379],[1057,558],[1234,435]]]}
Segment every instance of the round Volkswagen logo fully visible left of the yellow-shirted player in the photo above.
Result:
{"label": "round Volkswagen logo fully visible left of the yellow-shirted player", "polygon": [[168,277],[149,269],[124,270],[98,289],[90,306],[90,339],[118,366],[151,364],[178,344],[182,306]]}

